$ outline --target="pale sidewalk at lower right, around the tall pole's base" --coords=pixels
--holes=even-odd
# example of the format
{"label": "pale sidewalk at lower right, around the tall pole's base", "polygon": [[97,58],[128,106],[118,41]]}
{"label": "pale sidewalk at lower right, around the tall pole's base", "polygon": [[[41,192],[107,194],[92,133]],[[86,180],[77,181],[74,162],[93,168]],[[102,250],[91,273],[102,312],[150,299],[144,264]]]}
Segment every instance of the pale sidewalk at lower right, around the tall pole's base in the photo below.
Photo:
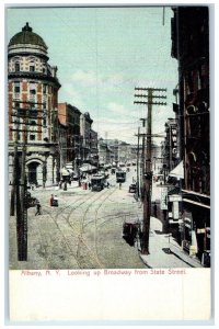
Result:
{"label": "pale sidewalk at lower right, around the tall pole's base", "polygon": [[151,217],[150,223],[149,252],[140,254],[148,268],[203,268],[199,260],[182,250],[172,236],[162,232],[162,223],[155,217]]}

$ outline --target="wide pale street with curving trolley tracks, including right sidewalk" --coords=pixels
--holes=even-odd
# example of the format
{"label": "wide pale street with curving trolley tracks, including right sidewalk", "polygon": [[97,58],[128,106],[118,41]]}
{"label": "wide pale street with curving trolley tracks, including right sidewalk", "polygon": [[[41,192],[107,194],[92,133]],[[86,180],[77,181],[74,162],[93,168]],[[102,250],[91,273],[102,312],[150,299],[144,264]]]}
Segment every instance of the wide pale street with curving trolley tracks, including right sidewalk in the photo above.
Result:
{"label": "wide pale street with curving trolley tracks, including right sidewalk", "polygon": [[[123,224],[130,218],[142,219],[142,204],[136,202],[128,186],[136,178],[135,167],[127,180],[116,183],[110,175],[110,188],[92,192],[68,185],[36,189],[32,195],[42,205],[42,215],[28,208],[27,262],[18,261],[15,218],[10,218],[10,269],[140,269],[200,266],[185,254],[177,242],[162,231],[161,220],[151,217],[150,254],[141,256],[139,241],[129,246],[123,239]],[[153,194],[159,194],[153,184]],[[58,196],[59,206],[51,207],[50,195]],[[172,247],[172,252],[166,250]]]}

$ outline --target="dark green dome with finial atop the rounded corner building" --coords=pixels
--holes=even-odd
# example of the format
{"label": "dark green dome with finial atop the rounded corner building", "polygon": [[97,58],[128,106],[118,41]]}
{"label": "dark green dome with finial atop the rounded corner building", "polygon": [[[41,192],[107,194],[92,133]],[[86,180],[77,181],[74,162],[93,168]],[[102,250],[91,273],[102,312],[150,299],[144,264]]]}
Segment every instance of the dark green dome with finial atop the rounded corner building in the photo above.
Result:
{"label": "dark green dome with finial atop the rounded corner building", "polygon": [[36,45],[47,49],[44,39],[38,34],[32,32],[32,27],[28,26],[28,23],[26,23],[26,25],[22,29],[22,32],[19,32],[14,36],[12,36],[9,43],[9,47],[19,44]]}

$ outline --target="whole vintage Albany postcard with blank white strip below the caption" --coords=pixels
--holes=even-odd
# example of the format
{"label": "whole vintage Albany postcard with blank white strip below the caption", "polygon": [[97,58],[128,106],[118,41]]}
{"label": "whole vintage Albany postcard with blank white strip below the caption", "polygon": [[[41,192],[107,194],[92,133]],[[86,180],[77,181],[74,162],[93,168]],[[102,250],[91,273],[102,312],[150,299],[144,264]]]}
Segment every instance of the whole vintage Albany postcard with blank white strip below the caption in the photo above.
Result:
{"label": "whole vintage Albany postcard with blank white strip below the caption", "polygon": [[7,7],[12,322],[210,321],[211,11]]}

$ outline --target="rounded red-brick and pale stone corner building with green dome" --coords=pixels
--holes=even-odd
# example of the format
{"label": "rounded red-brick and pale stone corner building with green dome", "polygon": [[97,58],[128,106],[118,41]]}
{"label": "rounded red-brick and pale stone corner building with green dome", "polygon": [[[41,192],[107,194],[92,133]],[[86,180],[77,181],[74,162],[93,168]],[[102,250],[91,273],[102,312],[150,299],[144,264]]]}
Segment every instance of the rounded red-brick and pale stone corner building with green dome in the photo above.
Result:
{"label": "rounded red-brick and pale stone corner building with green dome", "polygon": [[[9,180],[14,154],[25,151],[30,184],[56,183],[59,173],[57,67],[48,64],[44,39],[26,23],[8,45]],[[26,145],[26,149],[25,149]],[[24,146],[24,148],[23,148]]]}

